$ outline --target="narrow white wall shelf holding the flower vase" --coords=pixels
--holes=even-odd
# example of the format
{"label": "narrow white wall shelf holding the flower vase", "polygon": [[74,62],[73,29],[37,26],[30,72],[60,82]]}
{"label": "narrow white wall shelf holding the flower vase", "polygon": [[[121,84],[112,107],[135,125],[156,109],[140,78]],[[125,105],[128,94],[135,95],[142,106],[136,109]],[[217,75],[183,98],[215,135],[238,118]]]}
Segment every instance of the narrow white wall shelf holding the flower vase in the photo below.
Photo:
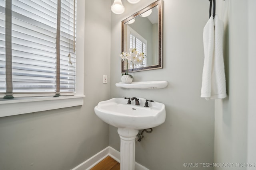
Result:
{"label": "narrow white wall shelf holding the flower vase", "polygon": [[145,82],[132,82],[130,84],[126,83],[116,83],[116,87],[122,88],[137,88],[137,89],[157,89],[157,88],[166,88],[168,82],[166,81],[145,81]]}

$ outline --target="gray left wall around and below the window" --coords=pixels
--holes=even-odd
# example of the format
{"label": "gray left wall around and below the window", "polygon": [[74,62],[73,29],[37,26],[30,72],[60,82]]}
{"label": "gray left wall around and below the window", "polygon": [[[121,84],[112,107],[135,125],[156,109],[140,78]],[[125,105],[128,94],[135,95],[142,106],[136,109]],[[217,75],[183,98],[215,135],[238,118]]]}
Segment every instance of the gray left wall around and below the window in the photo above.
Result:
{"label": "gray left wall around and below the window", "polygon": [[84,105],[1,117],[1,170],[70,170],[108,146],[108,125],[94,106],[110,98],[110,83],[102,84],[103,74],[110,78],[110,6],[78,0],[86,26]]}

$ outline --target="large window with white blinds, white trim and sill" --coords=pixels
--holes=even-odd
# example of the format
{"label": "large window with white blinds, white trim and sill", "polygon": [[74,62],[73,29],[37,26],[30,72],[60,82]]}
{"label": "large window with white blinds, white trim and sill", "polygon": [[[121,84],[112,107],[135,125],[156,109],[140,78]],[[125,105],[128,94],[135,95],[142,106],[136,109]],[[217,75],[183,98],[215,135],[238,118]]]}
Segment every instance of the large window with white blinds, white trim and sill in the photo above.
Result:
{"label": "large window with white blinds, white trim and sill", "polygon": [[[8,2],[10,2],[8,0]],[[28,3],[29,2],[29,3]],[[9,116],[9,115],[18,115],[24,113],[31,113],[36,111],[44,111],[50,109],[58,109],[64,107],[71,107],[71,106],[79,106],[82,105],[84,102],[84,8],[85,2],[84,1],[77,1],[76,8],[78,9],[75,12],[75,24],[78,27],[76,38],[75,34],[75,41],[74,39],[74,24],[73,24],[73,14],[74,12],[74,3],[73,0],[61,0],[61,22],[60,22],[60,93],[61,96],[58,98],[54,98],[53,95],[56,91],[56,85],[51,84],[51,81],[56,81],[52,77],[52,74],[56,74],[56,59],[54,62],[49,62],[52,59],[49,56],[52,56],[53,53],[56,55],[56,39],[54,39],[54,35],[56,37],[56,27],[54,27],[54,18],[56,20],[56,13],[57,12],[57,0],[12,0],[12,20],[17,21],[18,23],[12,27],[12,36],[13,39],[18,40],[17,42],[12,42],[13,47],[20,47],[20,45],[24,46],[24,48],[20,48],[19,50],[15,51],[16,49],[12,49],[15,53],[12,53],[16,57],[16,59],[12,60],[13,67],[15,66],[17,70],[12,69],[13,73],[16,74],[13,76],[13,80],[17,80],[18,76],[23,78],[24,80],[34,80],[36,78],[42,78],[41,82],[37,83],[30,83],[29,81],[27,84],[23,84],[22,88],[16,88],[16,85],[20,85],[19,81],[13,83],[14,86],[14,99],[11,100],[4,100],[3,97],[5,96],[6,90],[6,79],[5,79],[5,38],[6,35],[3,34],[5,31],[6,23],[5,23],[5,1],[0,0],[0,117]],[[15,4],[18,3],[18,4]],[[70,3],[70,4],[69,4]],[[22,6],[23,5],[23,6]],[[23,9],[25,8],[26,9]],[[44,11],[44,10],[45,11]],[[37,11],[37,12],[36,12]],[[68,11],[70,11],[68,13]],[[26,13],[28,13],[26,16]],[[51,12],[47,14],[47,12]],[[68,16],[69,14],[69,16]],[[47,16],[48,15],[48,16]],[[42,17],[42,23],[39,23],[39,19],[36,19],[38,16]],[[34,18],[33,18],[34,17]],[[70,18],[71,20],[68,20]],[[25,20],[25,21],[24,21]],[[50,20],[50,21],[49,21]],[[29,22],[30,21],[30,22]],[[40,21],[41,22],[41,21]],[[48,22],[48,24],[47,24]],[[69,23],[69,24],[68,24]],[[25,25],[22,25],[25,24]],[[36,25],[36,24],[39,24]],[[4,26],[3,26],[4,25]],[[68,26],[69,25],[69,26]],[[46,27],[46,28],[45,28]],[[21,28],[21,30],[15,30]],[[29,30],[29,31],[28,31]],[[76,31],[77,29],[75,29]],[[28,32],[27,32],[28,31]],[[51,33],[48,35],[47,33]],[[15,37],[21,36],[25,38]],[[40,35],[42,37],[40,37]],[[36,43],[35,40],[39,39],[39,43]],[[26,44],[26,43],[28,44]],[[50,42],[51,45],[46,45],[46,42]],[[73,45],[76,45],[76,54],[72,51]],[[52,45],[54,48],[52,48]],[[31,47],[36,47],[31,49]],[[30,49],[30,51],[25,50]],[[50,49],[50,50],[49,50]],[[24,51],[21,51],[24,50]],[[55,51],[53,51],[55,50]],[[68,52],[70,51],[70,61]],[[42,52],[42,53],[41,53]],[[20,54],[21,53],[21,54]],[[26,54],[24,54],[26,53]],[[17,56],[16,56],[17,55]],[[24,57],[19,57],[22,55]],[[19,57],[19,58],[18,58]],[[48,57],[48,58],[47,58]],[[44,58],[44,59],[43,59]],[[19,59],[19,60],[18,60]],[[21,63],[18,63],[21,62]],[[41,63],[42,65],[38,66],[34,63]],[[48,66],[47,64],[55,64],[54,66]],[[24,66],[26,65],[26,66]],[[20,69],[23,68],[27,69]],[[35,69],[36,70],[33,70]],[[54,70],[54,69],[55,70]],[[22,70],[22,71],[20,71]],[[42,71],[43,70],[43,71]],[[54,71],[53,71],[54,70]],[[34,72],[35,75],[33,78],[28,78],[24,74],[25,71]],[[40,73],[38,73],[40,72]],[[45,76],[45,74],[50,74],[51,76]],[[75,74],[75,75],[74,75]],[[33,74],[32,74],[33,75]],[[50,80],[51,78],[51,80]],[[76,80],[74,79],[76,78]],[[56,79],[56,78],[55,78]],[[21,79],[19,79],[21,80]],[[48,82],[47,82],[47,81]],[[21,81],[23,82],[23,80]],[[40,83],[45,84],[40,84]],[[47,83],[48,84],[47,84]],[[32,88],[31,85],[35,85]],[[49,86],[48,86],[49,85]],[[46,87],[46,88],[43,88]],[[29,92],[26,93],[26,90]],[[25,94],[26,93],[26,94]],[[50,95],[50,96],[49,96]],[[67,96],[66,96],[67,95]],[[28,97],[30,96],[30,97]],[[33,97],[34,96],[34,97]],[[41,97],[38,97],[41,96]]]}

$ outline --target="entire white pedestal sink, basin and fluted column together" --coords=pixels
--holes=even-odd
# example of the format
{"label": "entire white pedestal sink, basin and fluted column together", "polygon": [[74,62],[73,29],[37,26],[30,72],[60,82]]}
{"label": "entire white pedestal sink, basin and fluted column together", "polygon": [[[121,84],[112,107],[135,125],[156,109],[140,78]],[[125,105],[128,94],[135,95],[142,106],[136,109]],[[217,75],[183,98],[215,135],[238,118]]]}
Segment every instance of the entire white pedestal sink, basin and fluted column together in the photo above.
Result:
{"label": "entire white pedestal sink, basin and fluted column together", "polygon": [[118,128],[121,140],[120,170],[134,170],[135,139],[139,129],[148,129],[161,125],[165,121],[165,106],[159,102],[149,102],[139,98],[140,105],[127,104],[128,99],[112,98],[99,102],[94,111],[96,115],[109,125]]}

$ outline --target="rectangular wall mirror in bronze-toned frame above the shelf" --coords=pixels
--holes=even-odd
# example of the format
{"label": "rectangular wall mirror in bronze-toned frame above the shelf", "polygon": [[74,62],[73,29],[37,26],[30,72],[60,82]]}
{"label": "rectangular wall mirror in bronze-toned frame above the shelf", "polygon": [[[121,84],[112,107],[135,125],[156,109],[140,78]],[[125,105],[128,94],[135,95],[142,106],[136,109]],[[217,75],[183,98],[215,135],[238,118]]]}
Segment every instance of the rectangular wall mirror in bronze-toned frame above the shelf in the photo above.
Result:
{"label": "rectangular wall mirror in bronze-toned frame above the shelf", "polygon": [[122,52],[132,49],[138,61],[122,61],[122,73],[162,68],[162,0],[122,21]]}

